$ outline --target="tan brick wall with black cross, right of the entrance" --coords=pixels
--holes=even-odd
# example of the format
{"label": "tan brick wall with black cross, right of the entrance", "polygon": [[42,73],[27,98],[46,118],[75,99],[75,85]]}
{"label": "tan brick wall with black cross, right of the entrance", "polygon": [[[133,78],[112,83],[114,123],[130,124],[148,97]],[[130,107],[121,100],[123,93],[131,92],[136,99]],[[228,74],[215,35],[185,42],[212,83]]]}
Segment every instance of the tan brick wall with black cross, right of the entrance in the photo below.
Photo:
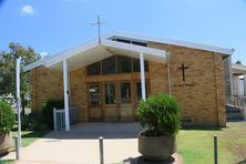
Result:
{"label": "tan brick wall with black cross, right of the entrance", "polygon": [[[148,47],[171,52],[172,95],[182,107],[182,116],[191,117],[193,125],[225,126],[222,54],[154,42],[150,42]],[[182,63],[188,66],[185,70],[185,82],[182,70],[178,70]],[[166,64],[163,64],[162,69],[160,66],[160,64],[150,64],[150,73],[155,72],[150,80],[152,94],[168,93],[167,66]],[[161,76],[166,80],[160,80]]]}

